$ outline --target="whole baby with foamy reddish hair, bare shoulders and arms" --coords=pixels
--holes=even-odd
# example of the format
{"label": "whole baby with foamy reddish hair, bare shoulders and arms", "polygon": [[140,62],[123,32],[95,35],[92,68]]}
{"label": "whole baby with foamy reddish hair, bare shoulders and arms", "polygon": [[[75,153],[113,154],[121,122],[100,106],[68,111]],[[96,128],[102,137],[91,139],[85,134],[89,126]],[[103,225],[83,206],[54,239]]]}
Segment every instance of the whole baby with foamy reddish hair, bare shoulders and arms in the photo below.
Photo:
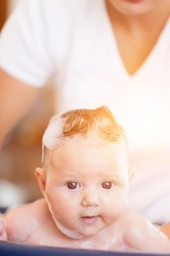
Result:
{"label": "whole baby with foamy reddish hair, bare shoulders and arms", "polygon": [[54,116],[42,139],[42,162],[35,174],[44,197],[3,216],[1,241],[170,252],[169,238],[127,207],[133,175],[127,140],[108,108]]}

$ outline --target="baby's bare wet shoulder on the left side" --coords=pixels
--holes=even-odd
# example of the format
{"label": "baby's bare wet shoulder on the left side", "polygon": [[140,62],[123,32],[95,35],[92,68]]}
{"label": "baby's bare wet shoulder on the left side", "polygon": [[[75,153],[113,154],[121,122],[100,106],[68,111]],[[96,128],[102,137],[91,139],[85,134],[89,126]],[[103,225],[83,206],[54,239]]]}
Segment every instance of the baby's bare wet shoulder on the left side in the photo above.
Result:
{"label": "baby's bare wet shoulder on the left side", "polygon": [[7,222],[8,240],[15,242],[26,241],[42,225],[47,211],[46,208],[45,199],[41,199],[7,211],[3,219]]}

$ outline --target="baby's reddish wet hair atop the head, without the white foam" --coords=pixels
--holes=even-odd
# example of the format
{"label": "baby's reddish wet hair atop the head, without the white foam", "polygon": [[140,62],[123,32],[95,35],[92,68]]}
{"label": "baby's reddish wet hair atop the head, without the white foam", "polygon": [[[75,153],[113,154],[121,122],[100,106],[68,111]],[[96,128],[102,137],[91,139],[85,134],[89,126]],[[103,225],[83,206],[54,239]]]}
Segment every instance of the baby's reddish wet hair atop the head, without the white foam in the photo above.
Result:
{"label": "baby's reddish wet hair atop the head, without the white foam", "polygon": [[66,118],[63,123],[63,138],[74,135],[85,136],[93,130],[96,130],[104,140],[117,141],[120,136],[125,138],[123,129],[106,106],[93,110],[71,110],[63,113],[61,118]]}

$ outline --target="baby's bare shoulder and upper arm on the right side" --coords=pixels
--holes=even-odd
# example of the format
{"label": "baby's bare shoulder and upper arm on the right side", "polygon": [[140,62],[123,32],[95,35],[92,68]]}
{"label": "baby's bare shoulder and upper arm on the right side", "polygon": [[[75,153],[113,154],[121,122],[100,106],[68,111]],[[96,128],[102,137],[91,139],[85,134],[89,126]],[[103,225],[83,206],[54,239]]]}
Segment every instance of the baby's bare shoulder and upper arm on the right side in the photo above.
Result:
{"label": "baby's bare shoulder and upper arm on the right side", "polygon": [[158,227],[144,219],[142,214],[130,211],[125,216],[124,241],[141,252],[170,252],[170,240]]}

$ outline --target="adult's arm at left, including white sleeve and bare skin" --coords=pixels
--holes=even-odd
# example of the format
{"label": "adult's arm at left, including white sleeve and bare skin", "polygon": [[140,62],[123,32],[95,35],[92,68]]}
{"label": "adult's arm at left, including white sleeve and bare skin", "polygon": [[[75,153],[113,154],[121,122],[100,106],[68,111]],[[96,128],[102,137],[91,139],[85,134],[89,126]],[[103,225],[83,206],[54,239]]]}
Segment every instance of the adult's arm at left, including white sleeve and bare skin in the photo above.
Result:
{"label": "adult's arm at left, including white sleeve and bare skin", "polygon": [[1,30],[0,147],[53,73],[48,6],[48,1],[20,1]]}

